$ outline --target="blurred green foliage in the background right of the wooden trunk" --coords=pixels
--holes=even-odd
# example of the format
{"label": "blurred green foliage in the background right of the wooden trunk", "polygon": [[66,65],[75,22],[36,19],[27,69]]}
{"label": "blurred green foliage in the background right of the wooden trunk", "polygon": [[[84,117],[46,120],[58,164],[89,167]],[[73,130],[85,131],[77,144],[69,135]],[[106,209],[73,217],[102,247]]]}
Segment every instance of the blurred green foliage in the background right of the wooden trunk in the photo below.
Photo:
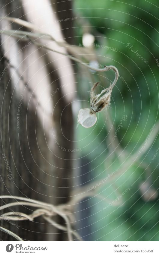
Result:
{"label": "blurred green foliage in the background right of the wooden trunk", "polygon": [[[159,59],[158,4],[157,0],[151,2],[145,0],[130,2],[126,0],[122,2],[75,0],[73,6],[74,12],[79,17],[75,30],[77,45],[82,43],[82,35],[87,31],[95,36],[95,43],[98,45],[118,50],[112,51],[101,46],[94,47],[96,54],[101,56],[100,64],[115,65],[131,89],[129,92],[122,79],[119,78],[113,89],[112,103],[107,110],[112,117],[115,129],[122,115],[128,116],[127,122],[118,132],[118,139],[125,152],[130,152],[131,155],[140,148],[153,123],[158,121],[159,67],[155,62],[156,58]],[[85,26],[81,25],[81,21],[84,21],[82,24]],[[137,50],[148,61],[147,64],[127,47],[128,43],[133,45],[132,49]],[[105,73],[104,75],[113,77],[112,74]],[[81,77],[79,74],[78,81],[81,81]],[[101,85],[105,87],[104,84]],[[89,79],[85,75],[83,83],[80,83],[78,87],[78,90],[86,91],[79,93],[81,100],[89,101],[90,88]],[[82,107],[88,107],[88,104],[89,102],[82,102]],[[82,148],[82,156],[87,155],[91,162],[89,177],[93,180],[102,179],[113,170],[118,172],[120,166],[116,155],[112,161],[105,160],[108,153],[108,132],[105,128],[105,121],[107,125],[107,120],[104,119],[102,113],[99,113],[95,127],[85,129],[79,125],[76,129],[76,137],[79,141],[77,144]],[[146,165],[151,162],[149,167],[153,173],[149,179],[152,183],[154,182],[155,188],[158,187],[156,179],[159,154],[154,161],[151,161],[151,158],[159,146],[158,142],[159,140],[156,139],[148,154],[146,153],[142,158]],[[107,204],[105,201],[98,198],[88,201],[92,211],[89,225],[91,225],[93,240],[158,240],[157,199],[146,202],[141,198],[139,191],[140,183],[146,178],[145,168],[133,164],[125,169],[116,180],[111,181],[110,184],[108,182],[101,188],[101,194],[111,202],[116,198],[115,187],[119,189],[118,193],[130,187],[131,190],[123,196],[122,205],[111,206],[103,210]]]}

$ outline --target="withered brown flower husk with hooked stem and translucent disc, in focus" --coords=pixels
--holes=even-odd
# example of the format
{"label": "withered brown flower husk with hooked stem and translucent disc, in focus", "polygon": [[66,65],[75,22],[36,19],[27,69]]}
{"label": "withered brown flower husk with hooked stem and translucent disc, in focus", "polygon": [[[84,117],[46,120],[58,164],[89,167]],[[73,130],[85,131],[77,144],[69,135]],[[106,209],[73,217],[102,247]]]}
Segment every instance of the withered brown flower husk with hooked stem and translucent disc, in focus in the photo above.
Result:
{"label": "withered brown flower husk with hooked stem and translucent disc, in focus", "polygon": [[[78,113],[78,122],[85,128],[90,128],[91,126],[95,125],[97,121],[96,112],[102,111],[105,107],[109,106],[110,99],[111,99],[111,93],[113,90],[114,85],[116,84],[119,72],[116,67],[114,66],[105,66],[104,70],[113,70],[115,71],[115,79],[113,81],[113,84],[110,84],[110,86],[104,90],[101,91],[100,94],[95,94],[95,88],[99,85],[100,82],[96,82],[93,87],[91,88],[91,98],[90,98],[90,109],[80,109]],[[100,70],[101,71],[101,70]],[[105,93],[104,95],[102,95]]]}

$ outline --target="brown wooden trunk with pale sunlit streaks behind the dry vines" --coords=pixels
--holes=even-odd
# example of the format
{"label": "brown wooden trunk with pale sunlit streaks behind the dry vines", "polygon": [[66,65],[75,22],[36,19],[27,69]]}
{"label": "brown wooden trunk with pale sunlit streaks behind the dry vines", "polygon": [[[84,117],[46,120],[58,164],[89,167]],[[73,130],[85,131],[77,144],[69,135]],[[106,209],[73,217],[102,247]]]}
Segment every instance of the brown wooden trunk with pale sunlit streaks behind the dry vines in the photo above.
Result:
{"label": "brown wooden trunk with pale sunlit streaks behind the dry vines", "polygon": [[[54,22],[58,17],[53,14],[51,5],[46,6],[46,2],[49,1],[27,1],[27,4],[18,0],[6,1],[4,7],[0,3],[0,16],[25,19],[39,26],[38,30],[54,35],[59,27]],[[22,4],[24,6],[18,8]],[[59,9],[60,3],[57,6]],[[38,9],[40,7],[41,10]],[[42,17],[41,12],[45,14]],[[0,26],[1,30],[6,26],[7,29],[20,28],[4,19]],[[61,31],[54,36],[60,39]],[[73,168],[72,155],[68,152],[73,148],[71,101],[74,96],[74,77],[71,63],[67,57],[37,49],[29,40],[20,42],[3,33],[0,39],[0,194],[22,196],[56,205],[65,203],[70,194],[69,178]],[[6,163],[10,172],[6,169]],[[1,205],[4,202],[10,201],[1,200]],[[34,209],[20,206],[13,210],[31,213]],[[55,218],[58,223],[62,221],[57,216]],[[32,222],[26,220],[14,223],[19,228],[6,220],[1,221],[0,226],[24,240],[66,240],[65,234],[46,224],[41,217]],[[3,232],[0,232],[0,239],[14,240]]]}

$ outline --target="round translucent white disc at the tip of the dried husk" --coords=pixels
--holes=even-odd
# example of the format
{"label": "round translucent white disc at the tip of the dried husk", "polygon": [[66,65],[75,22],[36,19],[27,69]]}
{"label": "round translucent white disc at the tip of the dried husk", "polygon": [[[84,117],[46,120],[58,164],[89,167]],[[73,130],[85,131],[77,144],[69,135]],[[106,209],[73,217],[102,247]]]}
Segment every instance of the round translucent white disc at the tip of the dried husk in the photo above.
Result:
{"label": "round translucent white disc at the tip of the dried husk", "polygon": [[80,109],[78,113],[78,121],[83,127],[90,128],[95,125],[97,117],[95,112],[91,109]]}

